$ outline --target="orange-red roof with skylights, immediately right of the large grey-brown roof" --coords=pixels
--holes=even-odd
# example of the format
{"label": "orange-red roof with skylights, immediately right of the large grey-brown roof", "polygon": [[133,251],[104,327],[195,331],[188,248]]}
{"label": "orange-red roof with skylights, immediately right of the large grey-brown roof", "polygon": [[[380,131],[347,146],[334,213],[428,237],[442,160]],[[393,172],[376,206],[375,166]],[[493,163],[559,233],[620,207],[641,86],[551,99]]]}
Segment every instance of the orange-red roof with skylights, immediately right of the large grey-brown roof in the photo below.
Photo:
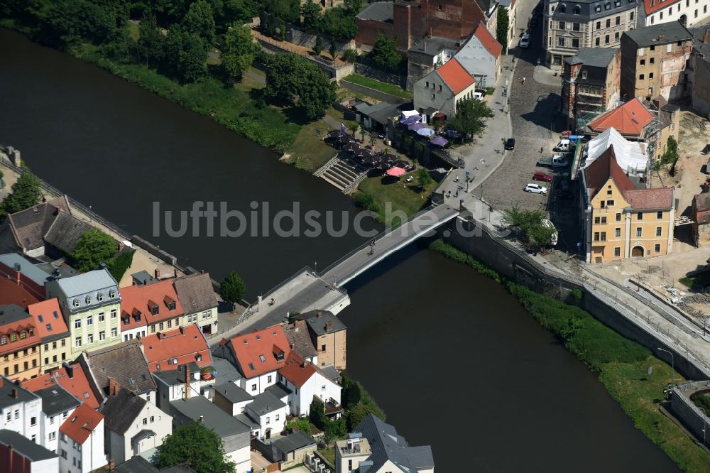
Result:
{"label": "orange-red roof with skylights, immediately right of the large grey-brown roof", "polygon": [[179,365],[190,362],[201,369],[212,366],[207,339],[196,324],[141,337],[141,344],[151,373],[178,369]]}

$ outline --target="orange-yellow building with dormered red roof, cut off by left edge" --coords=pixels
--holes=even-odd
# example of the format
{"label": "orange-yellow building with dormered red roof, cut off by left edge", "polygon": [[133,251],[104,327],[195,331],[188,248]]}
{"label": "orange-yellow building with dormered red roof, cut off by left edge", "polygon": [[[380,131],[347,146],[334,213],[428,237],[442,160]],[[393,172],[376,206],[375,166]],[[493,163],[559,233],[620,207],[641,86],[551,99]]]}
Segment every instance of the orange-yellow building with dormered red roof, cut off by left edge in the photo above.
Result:
{"label": "orange-yellow building with dormered red roof, cut off by left edge", "polygon": [[19,305],[0,305],[0,373],[13,380],[40,374],[40,336]]}

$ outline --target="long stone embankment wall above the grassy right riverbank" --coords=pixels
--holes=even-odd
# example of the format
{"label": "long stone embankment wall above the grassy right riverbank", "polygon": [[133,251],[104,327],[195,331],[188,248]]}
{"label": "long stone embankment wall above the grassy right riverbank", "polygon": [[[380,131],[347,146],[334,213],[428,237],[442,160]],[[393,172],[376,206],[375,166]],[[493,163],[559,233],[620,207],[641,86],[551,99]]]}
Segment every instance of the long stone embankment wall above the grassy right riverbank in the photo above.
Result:
{"label": "long stone embankment wall above the grassy right riverbank", "polygon": [[[465,232],[474,232],[475,236],[462,236],[454,224],[449,224],[447,229],[439,229],[439,234],[442,234],[452,246],[466,251],[502,276],[525,284],[538,293],[579,305],[604,325],[624,337],[643,344],[660,359],[666,359],[667,354],[659,352],[658,348],[669,350],[674,354],[675,369],[687,379],[704,380],[710,377],[701,363],[691,359],[687,352],[679,349],[672,342],[671,337],[665,337],[640,317],[635,317],[633,309],[616,303],[613,294],[596,290],[594,286],[572,275],[545,268],[530,259],[525,251],[489,233],[488,229],[478,224],[470,214],[468,219],[464,215],[457,220],[461,229]],[[579,289],[584,294],[581,301],[572,297],[574,289]]]}

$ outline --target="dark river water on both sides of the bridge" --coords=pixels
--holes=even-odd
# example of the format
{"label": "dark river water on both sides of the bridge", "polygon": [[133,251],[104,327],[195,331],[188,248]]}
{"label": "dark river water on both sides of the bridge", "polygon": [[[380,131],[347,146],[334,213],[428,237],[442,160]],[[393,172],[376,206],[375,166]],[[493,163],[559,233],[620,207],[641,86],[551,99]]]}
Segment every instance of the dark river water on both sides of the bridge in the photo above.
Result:
{"label": "dark river water on both sides of the bridge", "polygon": [[[269,202],[272,215],[300,202],[304,212],[344,212],[345,222],[357,210],[204,116],[16,33],[0,30],[0,64],[0,143],[19,148],[41,178],[214,278],[236,269],[250,298],[363,240],[354,232],[206,237],[204,225],[200,236],[163,229],[154,237],[153,202],[175,211],[227,202],[244,212]],[[410,445],[432,445],[437,472],[677,471],[496,283],[410,246],[348,289],[348,369]]]}

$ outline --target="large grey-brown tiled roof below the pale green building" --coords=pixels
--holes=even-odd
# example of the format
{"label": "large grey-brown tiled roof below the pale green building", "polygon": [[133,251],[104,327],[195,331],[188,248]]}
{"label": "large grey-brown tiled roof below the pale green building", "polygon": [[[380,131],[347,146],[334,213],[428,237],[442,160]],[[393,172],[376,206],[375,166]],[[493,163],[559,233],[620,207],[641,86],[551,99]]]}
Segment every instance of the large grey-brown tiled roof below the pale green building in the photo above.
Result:
{"label": "large grey-brown tiled roof below the pale green building", "polygon": [[136,391],[138,394],[155,390],[155,380],[143,357],[141,341],[138,339],[85,352],[84,356],[94,381],[104,391],[104,395],[109,392],[109,377],[115,378],[122,389]]}

